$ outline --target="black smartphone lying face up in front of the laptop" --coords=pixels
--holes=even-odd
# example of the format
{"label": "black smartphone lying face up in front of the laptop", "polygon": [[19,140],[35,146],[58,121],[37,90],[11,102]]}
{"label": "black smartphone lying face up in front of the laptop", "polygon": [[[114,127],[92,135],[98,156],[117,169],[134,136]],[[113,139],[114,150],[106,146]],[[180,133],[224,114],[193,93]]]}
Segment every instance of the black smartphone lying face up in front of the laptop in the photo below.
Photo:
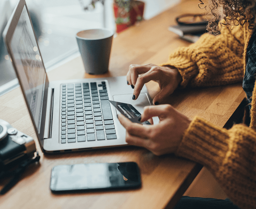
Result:
{"label": "black smartphone lying face up in front of the laptop", "polygon": [[135,162],[57,165],[51,171],[50,189],[54,193],[139,187],[141,178]]}

